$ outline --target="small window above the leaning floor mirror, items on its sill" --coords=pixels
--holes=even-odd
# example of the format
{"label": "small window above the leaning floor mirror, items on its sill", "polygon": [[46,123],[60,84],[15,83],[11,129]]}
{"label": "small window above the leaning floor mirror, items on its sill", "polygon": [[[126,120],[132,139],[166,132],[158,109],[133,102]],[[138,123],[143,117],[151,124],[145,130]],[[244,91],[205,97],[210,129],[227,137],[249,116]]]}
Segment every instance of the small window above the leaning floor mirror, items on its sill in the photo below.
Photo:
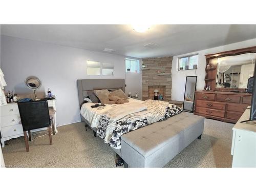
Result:
{"label": "small window above the leaning floor mirror, items on its sill", "polygon": [[198,54],[179,58],[178,70],[197,69]]}

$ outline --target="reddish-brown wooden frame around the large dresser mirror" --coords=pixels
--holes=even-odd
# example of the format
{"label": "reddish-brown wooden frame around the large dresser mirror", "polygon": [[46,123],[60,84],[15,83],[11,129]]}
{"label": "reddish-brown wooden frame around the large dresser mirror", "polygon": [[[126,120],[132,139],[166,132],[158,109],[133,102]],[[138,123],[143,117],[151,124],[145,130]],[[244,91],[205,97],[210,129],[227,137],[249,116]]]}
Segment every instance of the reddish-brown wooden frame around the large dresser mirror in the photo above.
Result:
{"label": "reddish-brown wooden frame around the large dresser mirror", "polygon": [[[211,74],[212,81],[209,82],[209,81],[205,80],[205,86],[206,86],[206,84],[209,84],[210,87],[211,87],[210,91],[238,90],[238,91],[241,91],[241,92],[245,92],[245,89],[242,89],[242,88],[216,88],[216,75],[217,75],[217,65],[218,65],[218,63],[210,63],[211,59],[221,58],[221,57],[226,57],[226,56],[241,55],[241,54],[245,54],[245,53],[256,53],[256,46],[205,55],[205,59],[206,59],[205,70],[207,70],[207,65],[208,64],[215,67],[215,69],[212,70],[212,74]],[[206,75],[207,75],[207,72],[206,72]]]}

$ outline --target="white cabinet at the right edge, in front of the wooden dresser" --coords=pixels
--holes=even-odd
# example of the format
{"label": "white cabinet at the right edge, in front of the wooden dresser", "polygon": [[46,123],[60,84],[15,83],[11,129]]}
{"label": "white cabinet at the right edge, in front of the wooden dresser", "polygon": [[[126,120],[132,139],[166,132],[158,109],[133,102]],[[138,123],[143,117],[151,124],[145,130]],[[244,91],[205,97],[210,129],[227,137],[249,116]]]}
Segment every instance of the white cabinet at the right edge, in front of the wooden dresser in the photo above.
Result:
{"label": "white cabinet at the right edge, in front of the wooden dresser", "polygon": [[247,109],[233,127],[232,167],[256,167],[256,124],[240,123],[249,116]]}

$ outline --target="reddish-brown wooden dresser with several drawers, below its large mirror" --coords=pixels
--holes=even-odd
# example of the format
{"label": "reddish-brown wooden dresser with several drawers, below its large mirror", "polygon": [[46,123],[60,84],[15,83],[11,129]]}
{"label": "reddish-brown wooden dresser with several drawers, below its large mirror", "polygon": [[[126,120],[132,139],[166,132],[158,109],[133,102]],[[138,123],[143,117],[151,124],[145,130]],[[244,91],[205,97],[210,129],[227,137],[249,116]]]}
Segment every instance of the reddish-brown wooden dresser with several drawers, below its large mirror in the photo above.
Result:
{"label": "reddish-brown wooden dresser with several drawers, below its large mirror", "polygon": [[194,114],[236,123],[250,104],[250,93],[197,91]]}

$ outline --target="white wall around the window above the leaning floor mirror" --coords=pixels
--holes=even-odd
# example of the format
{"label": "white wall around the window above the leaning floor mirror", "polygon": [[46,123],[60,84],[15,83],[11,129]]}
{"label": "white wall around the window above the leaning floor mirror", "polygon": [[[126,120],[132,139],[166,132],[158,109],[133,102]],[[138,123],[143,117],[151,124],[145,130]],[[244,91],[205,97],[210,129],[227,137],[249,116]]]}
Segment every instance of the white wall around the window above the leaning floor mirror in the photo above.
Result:
{"label": "white wall around the window above the leaning floor mirror", "polygon": [[[195,51],[191,53],[186,53],[182,55],[176,55],[173,57],[172,66],[172,100],[183,101],[186,76],[197,75],[197,90],[204,89],[204,77],[205,77],[205,66],[206,66],[206,54],[218,53],[222,51],[229,51],[233,49],[241,49],[246,47],[256,46],[256,38],[246,41],[236,42],[234,44],[229,44],[225,46],[205,49],[201,51]],[[198,53],[198,69],[197,70],[183,70],[177,71],[178,68],[178,58],[186,55]]]}

